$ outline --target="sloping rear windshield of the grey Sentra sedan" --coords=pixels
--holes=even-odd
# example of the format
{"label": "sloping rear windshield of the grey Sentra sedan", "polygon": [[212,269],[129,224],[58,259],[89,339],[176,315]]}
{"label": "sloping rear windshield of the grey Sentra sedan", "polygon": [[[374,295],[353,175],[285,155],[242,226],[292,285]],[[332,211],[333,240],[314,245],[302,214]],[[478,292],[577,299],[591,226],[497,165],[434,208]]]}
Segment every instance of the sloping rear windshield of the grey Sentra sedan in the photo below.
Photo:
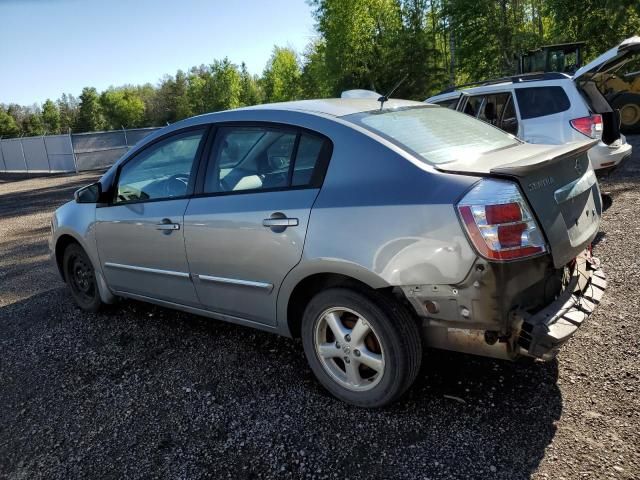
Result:
{"label": "sloping rear windshield of the grey Sentra sedan", "polygon": [[429,164],[476,158],[520,143],[502,130],[468,115],[426,105],[357,113],[344,118],[417,154]]}

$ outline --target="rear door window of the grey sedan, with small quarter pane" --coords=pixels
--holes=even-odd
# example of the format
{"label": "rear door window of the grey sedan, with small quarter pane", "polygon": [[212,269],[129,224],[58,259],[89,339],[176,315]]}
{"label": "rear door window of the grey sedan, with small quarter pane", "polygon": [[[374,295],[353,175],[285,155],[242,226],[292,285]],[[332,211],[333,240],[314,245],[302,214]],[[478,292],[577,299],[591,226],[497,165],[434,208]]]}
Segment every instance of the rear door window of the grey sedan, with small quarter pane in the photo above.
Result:
{"label": "rear door window of the grey sedan, with small quarter pane", "polygon": [[204,192],[304,187],[316,183],[326,140],[268,127],[222,127],[216,135]]}

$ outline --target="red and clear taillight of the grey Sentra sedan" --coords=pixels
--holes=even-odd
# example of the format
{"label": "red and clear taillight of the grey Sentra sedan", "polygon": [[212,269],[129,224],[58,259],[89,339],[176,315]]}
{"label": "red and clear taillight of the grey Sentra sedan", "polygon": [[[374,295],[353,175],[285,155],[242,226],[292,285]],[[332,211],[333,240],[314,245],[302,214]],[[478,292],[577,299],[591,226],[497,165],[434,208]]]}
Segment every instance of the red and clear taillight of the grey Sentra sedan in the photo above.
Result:
{"label": "red and clear taillight of the grey Sentra sedan", "polygon": [[457,208],[473,245],[488,260],[517,260],[546,252],[538,224],[513,182],[481,180]]}

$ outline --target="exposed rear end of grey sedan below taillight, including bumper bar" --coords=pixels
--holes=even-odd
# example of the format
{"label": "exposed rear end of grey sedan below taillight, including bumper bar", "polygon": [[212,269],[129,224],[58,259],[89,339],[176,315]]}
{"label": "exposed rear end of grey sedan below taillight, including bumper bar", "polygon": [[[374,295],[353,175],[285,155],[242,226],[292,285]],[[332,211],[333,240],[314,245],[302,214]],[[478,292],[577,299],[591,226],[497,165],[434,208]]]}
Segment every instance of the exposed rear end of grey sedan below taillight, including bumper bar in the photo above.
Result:
{"label": "exposed rear end of grey sedan below taillight, including bumper bar", "polygon": [[[421,319],[429,347],[505,360],[550,360],[600,303],[606,279],[589,250],[557,279],[547,276],[549,268],[550,259],[543,257],[520,264],[483,262],[463,283],[404,287],[403,292]],[[557,293],[547,293],[553,281]]]}

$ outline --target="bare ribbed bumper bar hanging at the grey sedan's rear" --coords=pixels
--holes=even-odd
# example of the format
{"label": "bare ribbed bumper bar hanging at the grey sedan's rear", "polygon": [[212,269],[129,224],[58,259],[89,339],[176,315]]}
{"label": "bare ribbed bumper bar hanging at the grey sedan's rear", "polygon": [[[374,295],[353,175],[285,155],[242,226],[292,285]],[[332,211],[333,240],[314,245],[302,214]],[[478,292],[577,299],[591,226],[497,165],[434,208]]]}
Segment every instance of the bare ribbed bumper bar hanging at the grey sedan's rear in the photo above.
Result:
{"label": "bare ribbed bumper bar hanging at the grey sedan's rear", "polygon": [[519,325],[517,351],[521,355],[550,360],[600,304],[607,286],[598,259],[588,252],[576,258],[567,287],[539,312],[514,313]]}

